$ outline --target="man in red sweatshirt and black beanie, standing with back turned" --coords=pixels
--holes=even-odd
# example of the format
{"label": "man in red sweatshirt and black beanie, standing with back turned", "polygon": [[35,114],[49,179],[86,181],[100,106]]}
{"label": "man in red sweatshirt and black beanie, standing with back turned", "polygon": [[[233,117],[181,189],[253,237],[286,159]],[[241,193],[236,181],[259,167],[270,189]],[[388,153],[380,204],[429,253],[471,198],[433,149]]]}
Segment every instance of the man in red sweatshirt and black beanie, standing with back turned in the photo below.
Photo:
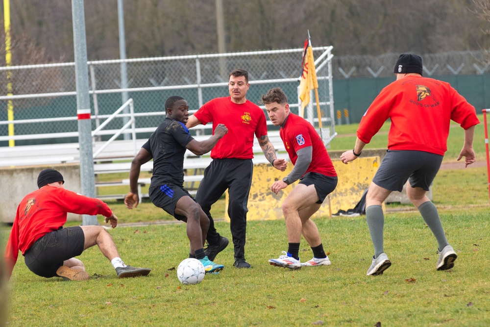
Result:
{"label": "man in red sweatshirt and black beanie, standing with back turned", "polygon": [[449,124],[453,120],[465,129],[465,143],[458,160],[465,157],[466,167],[475,162],[473,135],[479,124],[475,108],[449,83],[422,77],[422,58],[401,54],[394,67],[396,80],[374,99],[357,129],[354,150],[341,155],[343,163],[355,160],[364,146],[391,119],[388,152],[369,185],[366,220],[374,246],[368,276],[381,275],[391,266],[383,249],[383,201],[392,191],[401,192],[407,182],[407,196],[418,208],[437,239],[437,270],[454,266],[457,255],[449,245],[436,206],[426,196],[441,167],[447,150]]}

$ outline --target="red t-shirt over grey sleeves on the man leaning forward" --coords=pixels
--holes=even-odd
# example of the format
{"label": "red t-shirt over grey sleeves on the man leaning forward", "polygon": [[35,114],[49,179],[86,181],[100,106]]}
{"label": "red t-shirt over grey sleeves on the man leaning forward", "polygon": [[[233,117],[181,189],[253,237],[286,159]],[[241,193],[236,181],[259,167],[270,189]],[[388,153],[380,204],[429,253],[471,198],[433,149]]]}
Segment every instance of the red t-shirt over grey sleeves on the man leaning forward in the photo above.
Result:
{"label": "red t-shirt over grey sleeves on the man leaning forward", "polygon": [[[288,115],[279,135],[293,165],[298,159],[297,151],[312,147],[311,163],[306,173],[313,172],[326,176],[337,176],[332,160],[315,128],[306,119],[293,113]],[[305,173],[305,174],[306,174]]]}

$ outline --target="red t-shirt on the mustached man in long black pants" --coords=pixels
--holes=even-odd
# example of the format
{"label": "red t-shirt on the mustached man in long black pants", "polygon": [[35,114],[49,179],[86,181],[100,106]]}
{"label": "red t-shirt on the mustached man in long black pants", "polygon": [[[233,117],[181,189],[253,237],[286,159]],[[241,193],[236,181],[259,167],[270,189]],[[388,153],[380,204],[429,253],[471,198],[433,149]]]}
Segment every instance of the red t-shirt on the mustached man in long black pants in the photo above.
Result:
{"label": "red t-shirt on the mustached man in long black pants", "polygon": [[228,133],[211,150],[213,159],[251,159],[254,135],[258,138],[267,135],[264,111],[248,100],[237,104],[231,97],[216,98],[206,102],[194,116],[203,125],[213,122],[213,130],[218,124],[228,128]]}

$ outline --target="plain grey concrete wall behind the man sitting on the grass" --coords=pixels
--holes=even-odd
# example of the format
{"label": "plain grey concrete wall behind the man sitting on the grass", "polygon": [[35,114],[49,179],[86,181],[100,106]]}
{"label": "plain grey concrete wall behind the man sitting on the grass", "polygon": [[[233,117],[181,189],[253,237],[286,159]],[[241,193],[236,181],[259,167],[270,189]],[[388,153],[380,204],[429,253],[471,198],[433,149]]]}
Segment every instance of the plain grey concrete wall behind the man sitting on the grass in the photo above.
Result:
{"label": "plain grey concrete wall behind the man sitting on the grass", "polygon": [[[56,169],[63,175],[65,188],[80,193],[80,165],[63,164],[49,166],[23,166],[0,168],[0,222],[12,223],[17,206],[24,197],[38,189],[37,176],[46,168]],[[81,215],[68,214],[68,220],[81,221]]]}

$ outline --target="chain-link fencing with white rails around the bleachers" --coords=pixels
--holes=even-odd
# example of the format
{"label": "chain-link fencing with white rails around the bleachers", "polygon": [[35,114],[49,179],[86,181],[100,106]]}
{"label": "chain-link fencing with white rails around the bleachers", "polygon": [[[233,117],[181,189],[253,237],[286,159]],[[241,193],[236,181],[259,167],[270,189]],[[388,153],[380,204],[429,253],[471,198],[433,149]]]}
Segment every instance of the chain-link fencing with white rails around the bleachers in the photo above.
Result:
{"label": "chain-link fencing with white rails around the bleachers", "polygon": [[[315,58],[332,47],[313,48]],[[227,54],[204,54],[159,58],[104,60],[88,62],[93,130],[100,123],[99,116],[110,115],[123,101],[132,98],[135,113],[165,114],[164,104],[168,97],[179,95],[189,103],[191,112],[206,101],[228,96],[228,74],[237,68],[245,68],[249,74],[250,89],[247,99],[258,103],[262,94],[281,87],[297,112],[297,87],[302,73],[303,49],[253,51]],[[323,60],[331,60],[331,55]],[[127,81],[121,81],[121,69],[125,65]],[[330,65],[317,70],[319,94],[325,120],[330,122],[329,83]],[[7,78],[7,72],[11,73]],[[54,117],[76,116],[76,86],[74,63],[0,67],[0,145],[5,146],[8,135],[8,101],[14,113],[15,135],[60,133],[77,130],[76,121],[38,122]],[[329,77],[330,76],[330,77]],[[12,96],[6,85],[12,86]],[[127,85],[122,89],[121,85]],[[332,102],[333,103],[333,102]],[[332,110],[333,112],[333,110]],[[16,123],[29,120],[28,123]],[[140,115],[136,128],[156,127],[162,118]],[[12,121],[10,121],[12,123]],[[123,118],[115,119],[107,128],[117,129]],[[208,131],[209,133],[209,131]],[[138,135],[138,138],[149,134]],[[2,139],[2,137],[4,137]],[[16,145],[77,142],[76,138],[34,138],[18,140]]]}

